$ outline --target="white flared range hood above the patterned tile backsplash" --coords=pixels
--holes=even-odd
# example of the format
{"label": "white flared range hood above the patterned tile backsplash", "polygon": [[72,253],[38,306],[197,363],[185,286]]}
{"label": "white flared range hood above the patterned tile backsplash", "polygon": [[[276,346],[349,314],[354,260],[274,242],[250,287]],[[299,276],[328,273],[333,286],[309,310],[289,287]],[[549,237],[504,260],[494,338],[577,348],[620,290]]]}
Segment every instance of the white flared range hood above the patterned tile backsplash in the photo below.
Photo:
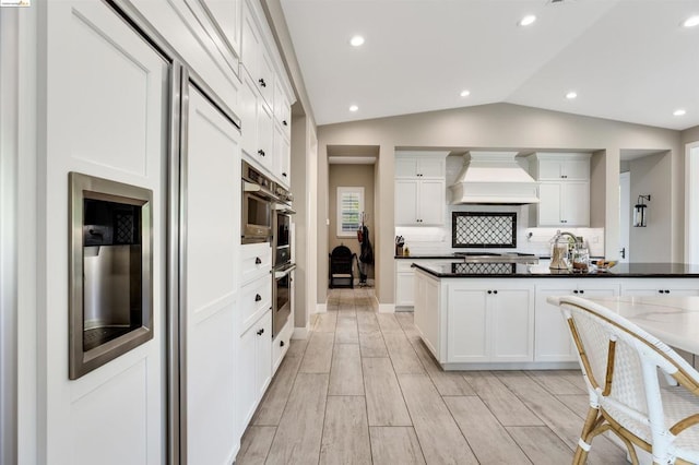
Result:
{"label": "white flared range hood above the patterned tile backsplash", "polygon": [[523,205],[538,203],[537,183],[517,163],[517,152],[469,152],[451,203]]}

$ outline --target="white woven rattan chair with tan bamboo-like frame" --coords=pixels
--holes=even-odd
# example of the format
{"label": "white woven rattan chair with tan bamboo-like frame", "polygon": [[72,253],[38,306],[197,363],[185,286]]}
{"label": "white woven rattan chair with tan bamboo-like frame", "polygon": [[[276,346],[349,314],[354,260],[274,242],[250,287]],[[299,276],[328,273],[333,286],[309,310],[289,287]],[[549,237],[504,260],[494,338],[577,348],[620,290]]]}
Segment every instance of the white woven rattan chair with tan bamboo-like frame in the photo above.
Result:
{"label": "white woven rattan chair with tan bamboo-like frame", "polygon": [[[561,297],[578,348],[590,409],[573,464],[584,464],[594,437],[615,432],[638,464],[632,444],[654,464],[699,463],[699,373],[675,350],[609,309]],[[668,382],[661,382],[664,377]]]}

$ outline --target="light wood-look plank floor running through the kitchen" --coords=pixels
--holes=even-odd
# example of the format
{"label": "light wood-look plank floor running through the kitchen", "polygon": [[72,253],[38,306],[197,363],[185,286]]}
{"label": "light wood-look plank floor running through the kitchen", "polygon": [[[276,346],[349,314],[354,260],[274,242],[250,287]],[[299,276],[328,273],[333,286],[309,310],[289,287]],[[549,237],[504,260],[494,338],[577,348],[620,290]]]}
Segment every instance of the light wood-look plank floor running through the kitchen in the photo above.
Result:
{"label": "light wood-look plank floor running through the kitchen", "polygon": [[[587,412],[579,371],[443,372],[412,313],[332,289],[245,432],[236,464],[570,463]],[[590,464],[626,464],[597,437]]]}

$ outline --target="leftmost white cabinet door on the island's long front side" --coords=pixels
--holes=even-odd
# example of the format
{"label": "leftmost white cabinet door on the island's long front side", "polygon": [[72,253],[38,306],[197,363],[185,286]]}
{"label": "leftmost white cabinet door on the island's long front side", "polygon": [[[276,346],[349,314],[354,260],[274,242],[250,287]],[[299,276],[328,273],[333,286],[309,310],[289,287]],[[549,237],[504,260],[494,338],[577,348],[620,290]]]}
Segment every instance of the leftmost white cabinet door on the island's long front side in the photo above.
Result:
{"label": "leftmost white cabinet door on the island's long front side", "polygon": [[489,361],[490,324],[486,291],[450,286],[448,306],[447,361]]}

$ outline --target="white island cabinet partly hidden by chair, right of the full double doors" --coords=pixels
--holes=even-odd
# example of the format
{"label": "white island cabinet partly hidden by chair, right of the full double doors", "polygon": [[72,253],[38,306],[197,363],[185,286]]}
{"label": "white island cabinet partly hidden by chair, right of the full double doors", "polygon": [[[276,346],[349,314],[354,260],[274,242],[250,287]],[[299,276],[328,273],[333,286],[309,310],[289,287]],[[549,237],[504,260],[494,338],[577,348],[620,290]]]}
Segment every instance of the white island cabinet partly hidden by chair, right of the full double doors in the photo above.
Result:
{"label": "white island cabinet partly hidden by chair, right of the full double doors", "polygon": [[546,301],[550,296],[614,297],[619,284],[601,279],[556,279],[536,285],[536,313],[534,315],[534,360],[576,361],[577,349],[558,306]]}

